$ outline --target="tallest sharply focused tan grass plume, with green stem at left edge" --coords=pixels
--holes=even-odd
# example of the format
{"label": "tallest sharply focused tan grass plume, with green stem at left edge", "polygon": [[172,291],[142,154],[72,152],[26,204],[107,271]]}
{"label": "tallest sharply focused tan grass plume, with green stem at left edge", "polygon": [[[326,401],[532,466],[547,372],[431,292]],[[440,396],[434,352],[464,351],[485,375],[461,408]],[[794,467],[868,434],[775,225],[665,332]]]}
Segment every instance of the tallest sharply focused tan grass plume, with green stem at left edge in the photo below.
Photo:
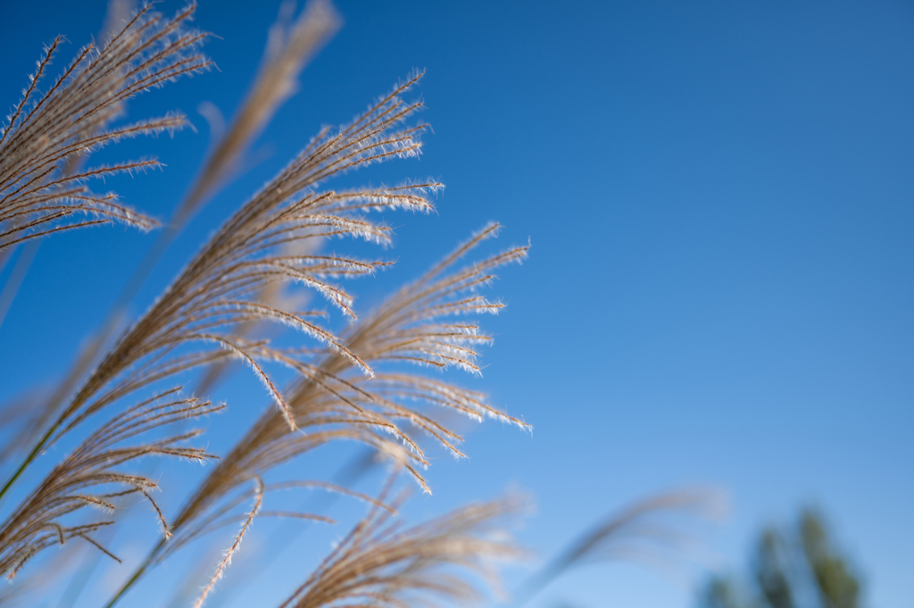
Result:
{"label": "tallest sharply focused tan grass plume, with green stem at left edge", "polygon": [[[287,242],[324,236],[355,235],[387,242],[389,229],[366,219],[366,211],[381,207],[430,208],[421,192],[437,186],[434,184],[340,194],[312,189],[318,180],[346,169],[419,153],[416,135],[423,125],[397,129],[420,108],[420,102],[406,103],[399,98],[399,93],[419,78],[417,74],[400,84],[355,123],[337,132],[325,128],[279,176],[239,209],[112,347],[0,494],[16,482],[38,453],[96,412],[154,382],[219,357],[240,357],[250,363],[280,404],[287,424],[293,426],[288,406],[259,363],[263,359],[284,362],[284,357],[262,341],[234,339],[232,325],[253,320],[292,325],[324,340],[353,365],[370,373],[364,362],[335,336],[310,321],[308,314],[274,309],[249,296],[275,282],[306,283],[323,292],[347,315],[353,315],[349,296],[324,277],[367,274],[383,262],[337,256],[290,259],[275,251]],[[191,343],[214,348],[188,349]]]}

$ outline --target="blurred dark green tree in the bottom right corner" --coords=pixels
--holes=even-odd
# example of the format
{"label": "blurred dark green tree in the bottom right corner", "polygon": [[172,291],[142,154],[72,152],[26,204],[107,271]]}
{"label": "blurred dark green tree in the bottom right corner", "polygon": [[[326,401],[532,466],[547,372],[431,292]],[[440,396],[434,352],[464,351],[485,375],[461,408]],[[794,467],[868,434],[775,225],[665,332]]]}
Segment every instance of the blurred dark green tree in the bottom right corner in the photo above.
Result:
{"label": "blurred dark green tree in the bottom right corner", "polygon": [[796,524],[765,528],[750,581],[716,576],[699,608],[859,608],[861,584],[830,538],[820,513],[804,509]]}

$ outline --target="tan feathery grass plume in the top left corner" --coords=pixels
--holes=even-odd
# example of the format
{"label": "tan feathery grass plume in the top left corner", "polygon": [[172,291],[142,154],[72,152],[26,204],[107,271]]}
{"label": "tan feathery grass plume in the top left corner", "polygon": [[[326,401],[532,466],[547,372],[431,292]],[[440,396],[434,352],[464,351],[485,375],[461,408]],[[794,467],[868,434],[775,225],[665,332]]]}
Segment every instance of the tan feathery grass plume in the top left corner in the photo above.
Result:
{"label": "tan feathery grass plume in the top left corner", "polygon": [[118,203],[113,193],[90,192],[85,182],[158,167],[158,161],[67,169],[76,165],[80,155],[124,137],[174,132],[185,125],[184,116],[175,113],[107,128],[121,112],[123,101],[210,65],[197,52],[207,35],[186,28],[195,8],[189,5],[167,20],[147,6],[103,47],[81,48],[42,94],[38,83],[58,53],[62,37],[45,49],[22,100],[0,132],[0,251],[59,230],[112,221],[140,229],[157,225]]}

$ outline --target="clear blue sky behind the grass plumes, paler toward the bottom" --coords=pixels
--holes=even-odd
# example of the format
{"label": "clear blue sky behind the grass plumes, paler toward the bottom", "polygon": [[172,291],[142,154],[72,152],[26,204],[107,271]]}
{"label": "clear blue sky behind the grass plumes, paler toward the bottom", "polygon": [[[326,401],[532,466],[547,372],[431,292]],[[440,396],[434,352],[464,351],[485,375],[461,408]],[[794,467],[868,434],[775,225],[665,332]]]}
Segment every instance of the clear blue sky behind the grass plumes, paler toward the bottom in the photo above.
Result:
{"label": "clear blue sky behind the grass plumes, paler toward the bottom", "polygon": [[[197,133],[106,152],[168,165],[112,182],[124,201],[159,217],[175,207],[207,149],[198,103],[237,107],[278,5],[201,0],[219,70],[130,107],[180,109]],[[484,379],[465,381],[536,430],[471,433],[472,459],[441,454],[419,510],[526,488],[538,510],[521,538],[548,555],[632,498],[719,485],[732,503],[708,536],[720,564],[739,567],[762,524],[816,504],[856,555],[869,602],[908,605],[914,5],[337,6],[345,27],[255,145],[263,160],[175,243],[136,310],[320,124],[428,69],[425,154],[353,179],[439,177],[439,214],[386,214],[398,265],[353,291],[377,301],[490,219],[505,224],[504,245],[530,238],[530,260],[494,288],[509,307],[485,320],[496,340]],[[67,57],[104,12],[103,1],[3,3],[3,103],[43,43],[66,35]],[[41,245],[0,327],[0,397],[54,378],[152,239],[106,228]],[[256,410],[259,390],[248,378],[222,398]],[[685,608],[703,575],[594,566],[532,605]]]}

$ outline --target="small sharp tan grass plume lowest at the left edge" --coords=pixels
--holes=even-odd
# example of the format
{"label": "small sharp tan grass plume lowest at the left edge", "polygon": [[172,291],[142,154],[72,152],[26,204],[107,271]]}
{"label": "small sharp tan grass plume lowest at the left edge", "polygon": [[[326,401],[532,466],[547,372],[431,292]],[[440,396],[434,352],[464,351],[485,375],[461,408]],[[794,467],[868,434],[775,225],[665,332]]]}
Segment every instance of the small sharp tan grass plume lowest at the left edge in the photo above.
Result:
{"label": "small sharp tan grass plume lowest at the left edge", "polygon": [[141,494],[149,501],[163,533],[170,536],[165,517],[150,496],[156,488],[155,482],[143,475],[124,473],[121,468],[145,456],[176,456],[198,462],[211,458],[202,449],[182,445],[202,431],[179,432],[157,441],[131,442],[156,429],[223,408],[208,401],[181,399],[177,391],[160,393],[105,422],[54,467],[0,527],[0,574],[13,578],[41,550],[74,538],[90,542],[116,560],[90,536],[91,532],[112,525],[112,520],[74,524],[71,519],[85,507],[113,512],[115,499],[130,494]]}

